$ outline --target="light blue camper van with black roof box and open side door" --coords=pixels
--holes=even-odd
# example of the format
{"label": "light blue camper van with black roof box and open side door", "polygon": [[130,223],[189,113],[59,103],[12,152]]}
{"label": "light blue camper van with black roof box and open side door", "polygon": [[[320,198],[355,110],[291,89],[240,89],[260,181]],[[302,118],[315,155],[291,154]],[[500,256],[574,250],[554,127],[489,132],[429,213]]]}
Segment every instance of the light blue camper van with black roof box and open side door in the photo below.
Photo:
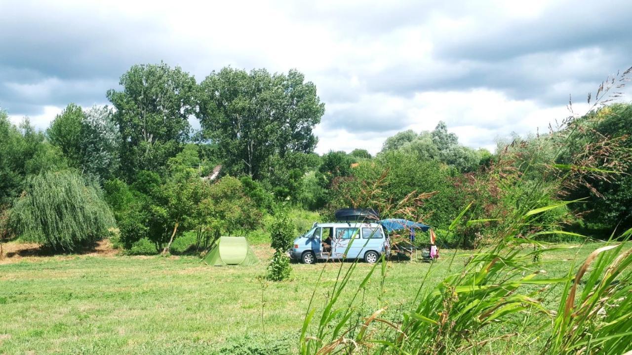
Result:
{"label": "light blue camper van with black roof box and open side door", "polygon": [[295,239],[289,257],[312,264],[340,259],[375,263],[381,255],[388,256],[389,239],[382,225],[376,223],[377,214],[370,211],[367,214],[367,210],[345,208],[336,212],[335,223],[314,223],[312,229]]}

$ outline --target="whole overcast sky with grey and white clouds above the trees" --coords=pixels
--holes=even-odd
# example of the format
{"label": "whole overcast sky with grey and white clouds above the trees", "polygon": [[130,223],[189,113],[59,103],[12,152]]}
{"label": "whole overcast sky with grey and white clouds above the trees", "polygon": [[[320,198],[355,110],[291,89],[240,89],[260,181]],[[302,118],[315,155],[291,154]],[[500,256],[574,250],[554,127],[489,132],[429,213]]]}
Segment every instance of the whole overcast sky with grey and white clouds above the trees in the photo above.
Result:
{"label": "whole overcast sky with grey and white clouds above the trees", "polygon": [[319,153],[375,153],[440,120],[493,150],[568,116],[569,94],[581,110],[632,66],[630,14],[629,0],[0,0],[0,107],[44,129],[69,102],[107,104],[132,64],[162,60],[198,81],[227,65],[296,68],[325,102]]}

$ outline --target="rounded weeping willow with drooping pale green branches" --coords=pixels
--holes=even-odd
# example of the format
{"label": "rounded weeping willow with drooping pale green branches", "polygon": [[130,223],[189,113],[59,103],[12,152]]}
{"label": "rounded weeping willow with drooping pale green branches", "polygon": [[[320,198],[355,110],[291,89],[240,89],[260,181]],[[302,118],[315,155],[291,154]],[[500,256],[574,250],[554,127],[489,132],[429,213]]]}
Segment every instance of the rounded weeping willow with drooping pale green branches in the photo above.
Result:
{"label": "rounded weeping willow with drooping pale green branches", "polygon": [[107,236],[115,222],[98,186],[61,171],[28,180],[25,195],[11,210],[11,225],[23,240],[72,251]]}

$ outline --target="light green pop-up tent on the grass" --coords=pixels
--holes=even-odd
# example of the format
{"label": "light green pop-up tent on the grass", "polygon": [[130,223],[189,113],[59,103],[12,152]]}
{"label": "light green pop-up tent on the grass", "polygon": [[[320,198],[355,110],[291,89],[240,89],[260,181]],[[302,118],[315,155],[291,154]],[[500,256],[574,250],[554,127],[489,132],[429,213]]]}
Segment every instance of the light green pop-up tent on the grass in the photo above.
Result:
{"label": "light green pop-up tent on the grass", "polygon": [[220,237],[202,261],[211,266],[253,265],[259,262],[243,237]]}

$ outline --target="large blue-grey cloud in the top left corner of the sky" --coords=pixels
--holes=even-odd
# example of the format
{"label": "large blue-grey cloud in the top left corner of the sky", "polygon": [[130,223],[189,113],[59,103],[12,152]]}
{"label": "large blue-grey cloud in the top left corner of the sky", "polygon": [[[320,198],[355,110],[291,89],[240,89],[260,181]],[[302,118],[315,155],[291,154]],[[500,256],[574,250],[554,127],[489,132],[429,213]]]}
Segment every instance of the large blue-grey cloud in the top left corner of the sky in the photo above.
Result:
{"label": "large blue-grey cloud in the top left corner of the sky", "polygon": [[101,15],[80,6],[59,11],[54,4],[28,1],[0,5],[0,13],[0,65],[15,70],[99,78],[120,75],[130,61],[157,54],[147,39],[159,35],[159,27],[149,19]]}

